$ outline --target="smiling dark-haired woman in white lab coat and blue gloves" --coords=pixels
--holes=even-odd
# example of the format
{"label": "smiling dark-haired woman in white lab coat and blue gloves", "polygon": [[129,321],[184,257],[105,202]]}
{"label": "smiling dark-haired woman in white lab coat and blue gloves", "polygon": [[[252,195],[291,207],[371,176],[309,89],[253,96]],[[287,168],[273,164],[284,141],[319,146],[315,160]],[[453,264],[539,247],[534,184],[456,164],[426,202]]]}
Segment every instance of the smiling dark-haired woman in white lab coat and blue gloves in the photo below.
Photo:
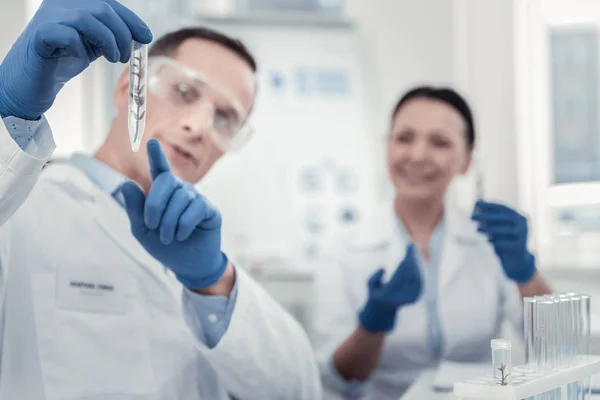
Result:
{"label": "smiling dark-haired woman in white lab coat and blue gloves", "polygon": [[394,199],[317,277],[322,377],[344,398],[397,400],[442,360],[489,359],[503,320],[521,329],[521,297],[550,293],[523,216],[483,201],[471,215],[447,200],[474,142],[455,91],[418,87],[397,103],[387,143]]}

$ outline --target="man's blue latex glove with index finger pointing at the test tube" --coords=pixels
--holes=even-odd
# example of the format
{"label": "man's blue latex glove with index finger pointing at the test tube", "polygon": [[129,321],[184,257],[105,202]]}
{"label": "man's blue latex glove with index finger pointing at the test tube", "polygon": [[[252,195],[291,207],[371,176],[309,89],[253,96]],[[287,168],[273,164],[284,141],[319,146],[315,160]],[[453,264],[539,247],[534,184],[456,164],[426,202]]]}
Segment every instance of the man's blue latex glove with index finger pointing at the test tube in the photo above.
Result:
{"label": "man's blue latex glove with index finger pointing at the test tube", "polygon": [[131,231],[150,255],[188,289],[214,285],[227,267],[221,252],[221,214],[192,185],[171,173],[156,139],[148,141],[152,186],[122,187]]}

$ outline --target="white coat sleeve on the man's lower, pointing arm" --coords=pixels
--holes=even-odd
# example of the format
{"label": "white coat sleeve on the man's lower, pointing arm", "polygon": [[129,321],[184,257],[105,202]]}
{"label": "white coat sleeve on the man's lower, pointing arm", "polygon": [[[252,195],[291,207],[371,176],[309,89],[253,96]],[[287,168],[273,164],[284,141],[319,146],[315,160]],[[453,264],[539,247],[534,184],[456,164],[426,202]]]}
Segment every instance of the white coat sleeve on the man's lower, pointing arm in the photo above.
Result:
{"label": "white coat sleeve on the man's lower, pointing arm", "polygon": [[[244,400],[321,399],[319,370],[306,332],[240,268],[236,280],[237,300],[225,335],[212,349],[196,339],[230,395]],[[197,330],[200,322],[193,306],[184,302],[183,307],[188,326]]]}

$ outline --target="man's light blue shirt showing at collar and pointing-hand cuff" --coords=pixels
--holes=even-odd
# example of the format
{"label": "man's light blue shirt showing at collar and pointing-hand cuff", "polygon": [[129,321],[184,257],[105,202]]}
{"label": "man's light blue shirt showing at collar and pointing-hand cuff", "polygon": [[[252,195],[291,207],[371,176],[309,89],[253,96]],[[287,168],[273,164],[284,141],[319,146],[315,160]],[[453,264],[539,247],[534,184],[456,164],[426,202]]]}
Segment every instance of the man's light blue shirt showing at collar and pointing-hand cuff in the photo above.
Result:
{"label": "man's light blue shirt showing at collar and pointing-hand cuff", "polygon": [[[74,154],[69,161],[83,171],[102,191],[113,196],[121,206],[125,205],[121,186],[127,181],[127,178],[101,161],[83,154]],[[237,299],[237,283],[235,283],[229,298],[203,296],[187,289],[184,291],[184,296],[196,310],[204,331],[205,344],[211,348],[216,346],[229,326]]]}

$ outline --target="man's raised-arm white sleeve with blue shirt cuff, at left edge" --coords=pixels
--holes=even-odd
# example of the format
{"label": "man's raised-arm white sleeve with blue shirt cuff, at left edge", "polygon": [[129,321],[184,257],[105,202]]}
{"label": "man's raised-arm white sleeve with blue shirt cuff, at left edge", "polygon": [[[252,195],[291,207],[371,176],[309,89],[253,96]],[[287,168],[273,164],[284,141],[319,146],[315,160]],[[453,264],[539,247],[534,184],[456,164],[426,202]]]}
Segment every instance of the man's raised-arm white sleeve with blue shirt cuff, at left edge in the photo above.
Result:
{"label": "man's raised-arm white sleeve with blue shirt cuff, at left edge", "polygon": [[55,147],[44,117],[0,123],[0,226],[21,207]]}

